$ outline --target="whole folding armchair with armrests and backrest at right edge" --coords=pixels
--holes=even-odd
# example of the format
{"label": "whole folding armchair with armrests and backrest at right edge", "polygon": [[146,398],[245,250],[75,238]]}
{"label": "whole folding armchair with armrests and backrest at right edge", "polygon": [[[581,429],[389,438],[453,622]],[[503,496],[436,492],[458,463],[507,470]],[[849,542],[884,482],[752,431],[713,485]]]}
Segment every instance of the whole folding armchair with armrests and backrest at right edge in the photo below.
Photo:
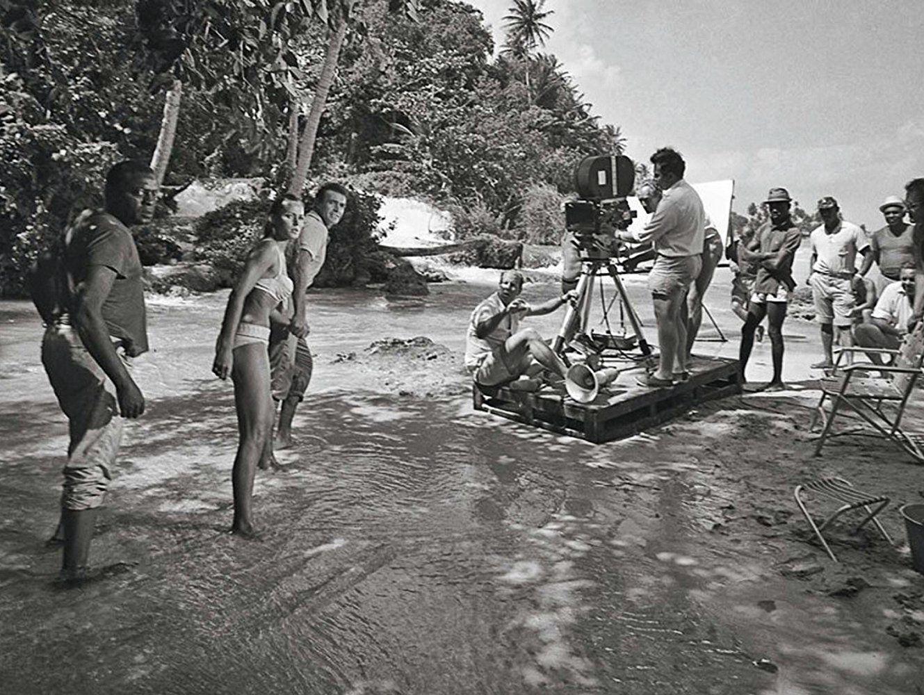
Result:
{"label": "whole folding armchair with armrests and backrest at right edge", "polygon": [[[841,366],[841,360],[845,355],[858,352],[894,355],[894,363],[879,366],[863,362]],[[918,377],[924,373],[921,369],[922,362],[924,362],[924,330],[921,328],[918,328],[912,335],[908,335],[905,344],[897,350],[840,348],[832,375],[821,380],[821,398],[815,406],[815,412],[808,426],[809,431],[813,431],[819,418],[824,424],[818,444],[815,445],[815,456],[821,455],[821,447],[825,439],[831,435],[834,417],[842,408],[849,408],[883,436],[892,439],[905,449],[918,463],[924,463],[924,451],[921,450],[918,442],[901,428],[908,398],[918,382]],[[843,373],[838,374],[838,370]],[[890,374],[892,378],[869,376],[870,373],[877,372]],[[824,405],[829,398],[831,399],[831,412],[826,412]],[[889,405],[886,406],[886,404]]]}

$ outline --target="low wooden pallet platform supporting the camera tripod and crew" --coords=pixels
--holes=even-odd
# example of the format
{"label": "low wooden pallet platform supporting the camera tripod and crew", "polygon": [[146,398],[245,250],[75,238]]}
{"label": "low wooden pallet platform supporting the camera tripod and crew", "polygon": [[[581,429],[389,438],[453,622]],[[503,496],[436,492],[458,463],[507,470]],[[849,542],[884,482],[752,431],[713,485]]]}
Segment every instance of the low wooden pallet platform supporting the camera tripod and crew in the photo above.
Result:
{"label": "low wooden pallet platform supporting the camera tripod and crew", "polygon": [[621,373],[588,404],[569,398],[564,386],[525,393],[475,385],[473,405],[492,415],[602,444],[671,420],[698,403],[741,393],[738,360],[694,357],[689,381],[668,388],[639,386],[639,373]]}

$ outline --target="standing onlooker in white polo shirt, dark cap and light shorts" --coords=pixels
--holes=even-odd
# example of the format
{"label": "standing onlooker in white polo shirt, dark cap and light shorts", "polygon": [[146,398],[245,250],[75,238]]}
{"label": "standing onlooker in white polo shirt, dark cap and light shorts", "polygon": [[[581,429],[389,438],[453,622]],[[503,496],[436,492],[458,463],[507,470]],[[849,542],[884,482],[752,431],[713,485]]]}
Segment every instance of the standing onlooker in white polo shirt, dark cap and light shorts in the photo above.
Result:
{"label": "standing onlooker in white polo shirt, dark cap and light shorts", "polygon": [[[850,327],[853,324],[854,293],[852,280],[857,273],[857,253],[866,257],[872,254],[866,233],[857,225],[841,219],[837,201],[825,196],[818,201],[821,226],[812,230],[811,286],[815,302],[815,321],[821,324],[821,348],[824,360],[812,365],[812,369],[832,369],[834,333],[838,344],[849,348],[853,345]],[[869,263],[864,262],[869,269]]]}

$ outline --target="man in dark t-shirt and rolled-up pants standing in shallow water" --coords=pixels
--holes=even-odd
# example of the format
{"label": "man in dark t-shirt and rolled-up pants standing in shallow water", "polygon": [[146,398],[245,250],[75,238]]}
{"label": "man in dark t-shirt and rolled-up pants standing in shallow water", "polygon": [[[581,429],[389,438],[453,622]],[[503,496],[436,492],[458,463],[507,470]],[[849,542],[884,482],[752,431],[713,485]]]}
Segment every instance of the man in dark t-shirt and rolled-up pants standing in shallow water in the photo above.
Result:
{"label": "man in dark t-shirt and rolled-up pants standing in shallow water", "polygon": [[104,210],[81,213],[67,229],[62,311],[46,317],[42,362],[70,431],[59,525],[67,584],[87,574],[96,509],[121,441],[119,416],[144,412],[144,396],[128,370],[130,359],[148,349],[141,263],[128,226],[151,220],[156,197],[146,165],[110,169]]}

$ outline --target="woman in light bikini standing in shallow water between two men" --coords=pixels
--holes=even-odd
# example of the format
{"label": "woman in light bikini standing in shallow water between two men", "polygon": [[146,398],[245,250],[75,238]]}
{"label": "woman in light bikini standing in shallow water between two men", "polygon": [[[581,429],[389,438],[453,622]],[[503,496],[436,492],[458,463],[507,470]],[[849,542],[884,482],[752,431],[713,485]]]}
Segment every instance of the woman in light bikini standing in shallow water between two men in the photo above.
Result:
{"label": "woman in light bikini standing in shallow water between two men", "polygon": [[298,238],[305,206],[296,196],[277,198],[260,243],[250,251],[244,271],[231,290],[222,332],[215,344],[212,371],[234,382],[240,441],[231,481],[234,486],[233,533],[254,536],[253,476],[266,446],[272,445],[274,405],[270,393],[268,344],[270,318],[286,311],[292,280],[286,273],[286,244]]}

